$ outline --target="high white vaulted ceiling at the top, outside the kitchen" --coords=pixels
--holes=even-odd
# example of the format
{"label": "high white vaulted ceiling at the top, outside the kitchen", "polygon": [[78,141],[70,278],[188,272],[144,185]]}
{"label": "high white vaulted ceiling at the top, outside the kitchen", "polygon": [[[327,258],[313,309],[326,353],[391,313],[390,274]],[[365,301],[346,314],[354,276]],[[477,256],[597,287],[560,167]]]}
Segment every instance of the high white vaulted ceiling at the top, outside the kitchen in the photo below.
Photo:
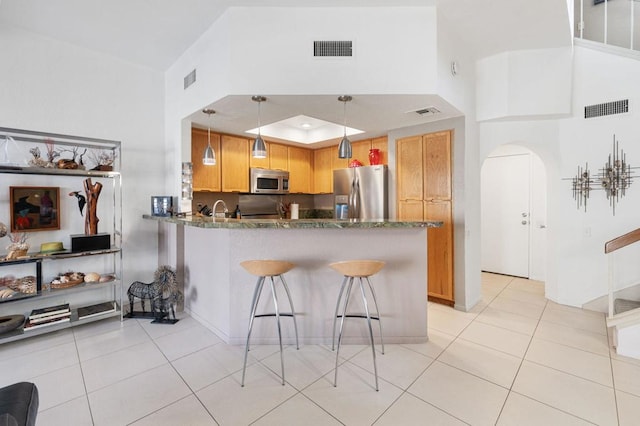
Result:
{"label": "high white vaulted ceiling at the top, outside the kitchen", "polygon": [[479,57],[569,45],[562,0],[0,0],[0,24],[166,70],[224,11],[433,6]]}

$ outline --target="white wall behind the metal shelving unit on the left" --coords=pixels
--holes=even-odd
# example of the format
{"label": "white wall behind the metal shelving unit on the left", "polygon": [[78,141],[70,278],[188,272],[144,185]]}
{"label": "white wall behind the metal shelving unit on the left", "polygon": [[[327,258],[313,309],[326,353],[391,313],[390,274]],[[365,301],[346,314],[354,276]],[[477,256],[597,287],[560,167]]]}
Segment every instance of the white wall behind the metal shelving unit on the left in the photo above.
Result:
{"label": "white wall behind the metal shelving unit on the left", "polygon": [[6,26],[0,52],[0,126],[122,141],[125,280],[149,280],[157,228],[141,216],[164,193],[162,74]]}

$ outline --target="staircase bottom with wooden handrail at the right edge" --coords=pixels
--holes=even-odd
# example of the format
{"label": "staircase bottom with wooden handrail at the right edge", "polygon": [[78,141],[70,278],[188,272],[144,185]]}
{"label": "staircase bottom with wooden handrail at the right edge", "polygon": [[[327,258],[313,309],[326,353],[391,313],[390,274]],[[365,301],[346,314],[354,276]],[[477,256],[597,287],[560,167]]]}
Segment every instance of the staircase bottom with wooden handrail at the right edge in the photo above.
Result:
{"label": "staircase bottom with wooden handrail at the right edge", "polygon": [[640,301],[614,298],[613,253],[640,241],[640,228],[608,241],[604,252],[609,260],[609,315],[613,344],[620,355],[640,359]]}

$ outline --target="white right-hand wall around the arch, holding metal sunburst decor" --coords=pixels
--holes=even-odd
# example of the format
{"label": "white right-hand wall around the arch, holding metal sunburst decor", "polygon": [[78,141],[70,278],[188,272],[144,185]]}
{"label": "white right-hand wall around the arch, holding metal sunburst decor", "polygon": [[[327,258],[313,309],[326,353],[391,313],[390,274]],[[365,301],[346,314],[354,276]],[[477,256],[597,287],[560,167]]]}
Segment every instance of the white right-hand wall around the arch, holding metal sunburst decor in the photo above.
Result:
{"label": "white right-hand wall around the arch, holding metal sunburst decor", "polygon": [[[593,191],[587,211],[578,210],[571,181],[577,167],[597,172],[612,149],[613,134],[633,166],[640,161],[640,122],[633,106],[640,62],[583,47],[574,48],[571,116],[535,121],[481,123],[480,158],[496,146],[515,143],[538,154],[547,170],[548,239],[546,294],[558,303],[581,306],[607,291],[604,244],[638,227],[640,190],[627,191],[613,216],[603,191]],[[584,119],[584,106],[629,99],[627,114]],[[540,113],[544,111],[541,109]],[[621,287],[640,281],[637,262],[618,266]]]}

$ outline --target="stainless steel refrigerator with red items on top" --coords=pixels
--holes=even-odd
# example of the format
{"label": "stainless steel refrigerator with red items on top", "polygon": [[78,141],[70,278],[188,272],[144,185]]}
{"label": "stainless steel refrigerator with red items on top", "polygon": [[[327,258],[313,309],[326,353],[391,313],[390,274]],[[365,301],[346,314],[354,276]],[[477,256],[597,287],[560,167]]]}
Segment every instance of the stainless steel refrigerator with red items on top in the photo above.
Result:
{"label": "stainless steel refrigerator with red items on top", "polygon": [[387,219],[387,166],[334,170],[333,195],[336,219]]}

